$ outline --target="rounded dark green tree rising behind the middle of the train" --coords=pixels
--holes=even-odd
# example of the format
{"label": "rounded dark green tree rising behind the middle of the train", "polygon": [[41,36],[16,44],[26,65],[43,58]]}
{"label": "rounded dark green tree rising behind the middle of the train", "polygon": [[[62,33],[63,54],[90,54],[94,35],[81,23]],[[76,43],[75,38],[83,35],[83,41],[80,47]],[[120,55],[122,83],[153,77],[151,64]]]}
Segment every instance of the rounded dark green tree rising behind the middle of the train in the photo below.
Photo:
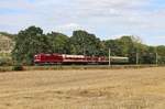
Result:
{"label": "rounded dark green tree rising behind the middle of the train", "polygon": [[86,31],[74,31],[70,37],[72,54],[99,55],[100,40]]}

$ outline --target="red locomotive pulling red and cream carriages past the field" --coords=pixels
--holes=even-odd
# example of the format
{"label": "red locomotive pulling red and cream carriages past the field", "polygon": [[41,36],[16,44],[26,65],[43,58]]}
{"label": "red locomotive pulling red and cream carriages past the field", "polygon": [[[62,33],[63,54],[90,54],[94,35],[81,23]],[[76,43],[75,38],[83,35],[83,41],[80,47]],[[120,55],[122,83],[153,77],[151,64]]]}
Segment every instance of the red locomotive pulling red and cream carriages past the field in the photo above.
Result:
{"label": "red locomotive pulling red and cream carriages past the field", "polygon": [[[111,64],[128,64],[129,57],[121,56],[110,56]],[[86,55],[69,55],[69,54],[36,54],[34,55],[35,65],[46,65],[46,64],[57,64],[57,65],[70,65],[70,64],[98,64],[106,65],[109,64],[109,57],[106,56],[86,56]]]}

